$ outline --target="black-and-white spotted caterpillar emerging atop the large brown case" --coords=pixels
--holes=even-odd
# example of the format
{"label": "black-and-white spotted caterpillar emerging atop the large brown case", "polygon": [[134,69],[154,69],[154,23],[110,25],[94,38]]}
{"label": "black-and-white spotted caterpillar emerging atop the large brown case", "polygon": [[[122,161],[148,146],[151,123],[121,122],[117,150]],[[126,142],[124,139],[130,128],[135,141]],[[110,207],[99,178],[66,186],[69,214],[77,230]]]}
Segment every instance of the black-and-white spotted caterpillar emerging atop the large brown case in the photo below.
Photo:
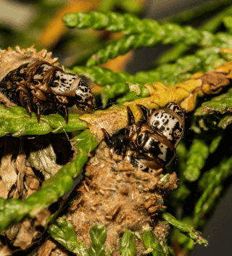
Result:
{"label": "black-and-white spotted caterpillar emerging atop the large brown case", "polygon": [[148,110],[136,105],[143,117],[135,123],[133,113],[128,109],[128,126],[125,137],[112,139],[104,128],[104,141],[111,152],[127,158],[130,163],[140,169],[156,175],[157,170],[166,170],[175,157],[184,131],[184,115],[179,104],[170,102],[159,110]]}

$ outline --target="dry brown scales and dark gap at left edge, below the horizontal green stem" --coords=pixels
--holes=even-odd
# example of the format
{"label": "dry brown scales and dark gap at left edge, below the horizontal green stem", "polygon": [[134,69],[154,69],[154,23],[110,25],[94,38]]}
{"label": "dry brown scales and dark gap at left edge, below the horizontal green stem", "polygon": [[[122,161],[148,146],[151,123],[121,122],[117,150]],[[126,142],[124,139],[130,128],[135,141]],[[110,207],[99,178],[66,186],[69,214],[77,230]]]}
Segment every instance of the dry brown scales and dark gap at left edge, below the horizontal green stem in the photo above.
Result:
{"label": "dry brown scales and dark gap at left edge, below the horizontal green stem", "polygon": [[[5,137],[1,156],[0,195],[5,199],[26,199],[38,191],[41,181],[27,160],[30,147],[25,149],[25,139]],[[31,140],[32,141],[32,140]]]}

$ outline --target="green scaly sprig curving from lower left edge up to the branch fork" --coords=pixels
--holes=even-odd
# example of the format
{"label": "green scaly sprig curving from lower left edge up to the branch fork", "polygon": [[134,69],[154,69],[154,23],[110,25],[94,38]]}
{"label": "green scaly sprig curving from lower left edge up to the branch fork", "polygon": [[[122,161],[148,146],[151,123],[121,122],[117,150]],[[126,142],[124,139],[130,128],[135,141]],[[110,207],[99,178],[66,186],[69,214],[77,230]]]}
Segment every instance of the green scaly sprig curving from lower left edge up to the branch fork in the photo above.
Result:
{"label": "green scaly sprig curving from lower left edge up to the branch fork", "polygon": [[80,175],[83,165],[88,160],[88,152],[98,145],[96,137],[89,130],[83,131],[72,139],[77,148],[75,159],[62,167],[55,176],[43,182],[42,189],[30,195],[24,202],[20,199],[0,198],[0,232],[11,223],[17,223],[27,217],[34,217],[43,208],[56,202],[72,187],[72,178]]}

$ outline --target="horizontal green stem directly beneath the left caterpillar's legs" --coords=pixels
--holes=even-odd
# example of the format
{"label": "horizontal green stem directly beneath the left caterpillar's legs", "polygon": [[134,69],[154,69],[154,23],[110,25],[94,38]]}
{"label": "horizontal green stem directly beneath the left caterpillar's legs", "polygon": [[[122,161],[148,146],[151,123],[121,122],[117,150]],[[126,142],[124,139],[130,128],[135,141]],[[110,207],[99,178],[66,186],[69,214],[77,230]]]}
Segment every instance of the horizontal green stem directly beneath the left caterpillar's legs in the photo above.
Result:
{"label": "horizontal green stem directly beneath the left caterpillar's legs", "polygon": [[14,137],[25,135],[43,135],[46,133],[64,133],[80,131],[87,128],[87,124],[80,120],[81,115],[69,114],[68,123],[60,114],[41,115],[40,123],[36,114],[32,112],[30,118],[24,107],[3,107],[0,104],[0,136],[12,134]]}

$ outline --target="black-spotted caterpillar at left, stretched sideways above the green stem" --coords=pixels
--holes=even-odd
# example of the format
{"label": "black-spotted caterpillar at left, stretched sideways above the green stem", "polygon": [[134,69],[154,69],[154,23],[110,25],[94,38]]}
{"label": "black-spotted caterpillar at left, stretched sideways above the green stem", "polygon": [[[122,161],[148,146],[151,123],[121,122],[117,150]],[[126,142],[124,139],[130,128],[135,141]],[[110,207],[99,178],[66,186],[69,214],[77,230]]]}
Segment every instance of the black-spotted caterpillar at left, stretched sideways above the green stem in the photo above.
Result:
{"label": "black-spotted caterpillar at left, stretched sideways above the green stem", "polygon": [[87,83],[78,75],[65,72],[46,61],[28,62],[10,71],[0,82],[0,91],[18,106],[25,107],[31,117],[58,111],[68,123],[68,107],[90,111],[96,106]]}

